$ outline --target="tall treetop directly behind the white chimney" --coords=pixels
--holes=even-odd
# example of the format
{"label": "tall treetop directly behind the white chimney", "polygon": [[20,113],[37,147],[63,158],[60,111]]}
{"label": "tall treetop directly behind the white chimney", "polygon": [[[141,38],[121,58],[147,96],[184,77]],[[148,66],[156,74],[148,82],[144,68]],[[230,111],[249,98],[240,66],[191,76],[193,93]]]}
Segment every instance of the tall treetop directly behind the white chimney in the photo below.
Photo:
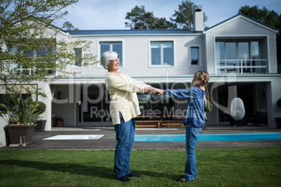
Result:
{"label": "tall treetop directly behind the white chimney", "polygon": [[[178,6],[178,10],[170,17],[171,21],[175,22],[179,29],[192,29],[194,28],[194,13],[196,9],[201,6],[197,6],[191,1],[182,1]],[[204,22],[208,20],[208,17],[204,13]]]}

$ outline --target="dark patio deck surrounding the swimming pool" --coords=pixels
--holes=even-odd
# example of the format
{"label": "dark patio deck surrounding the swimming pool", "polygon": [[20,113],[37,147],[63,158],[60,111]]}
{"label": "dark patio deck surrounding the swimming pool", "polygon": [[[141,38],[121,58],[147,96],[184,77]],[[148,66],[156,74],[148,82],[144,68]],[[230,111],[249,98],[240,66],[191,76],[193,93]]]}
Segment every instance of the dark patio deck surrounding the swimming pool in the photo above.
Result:
{"label": "dark patio deck surrounding the swimming pool", "polygon": [[[201,133],[256,133],[281,132],[280,128],[267,126],[208,126]],[[180,128],[136,128],[136,134],[184,134],[185,127]],[[99,140],[43,140],[55,135],[104,135]],[[115,149],[115,130],[113,127],[53,127],[50,131],[34,132],[32,144],[27,147],[2,147],[0,150],[15,149],[62,149],[62,150],[111,150]],[[212,149],[227,147],[276,147],[281,140],[249,140],[249,141],[209,141],[197,142],[196,149]],[[184,150],[185,142],[134,142],[132,149],[173,149]]]}

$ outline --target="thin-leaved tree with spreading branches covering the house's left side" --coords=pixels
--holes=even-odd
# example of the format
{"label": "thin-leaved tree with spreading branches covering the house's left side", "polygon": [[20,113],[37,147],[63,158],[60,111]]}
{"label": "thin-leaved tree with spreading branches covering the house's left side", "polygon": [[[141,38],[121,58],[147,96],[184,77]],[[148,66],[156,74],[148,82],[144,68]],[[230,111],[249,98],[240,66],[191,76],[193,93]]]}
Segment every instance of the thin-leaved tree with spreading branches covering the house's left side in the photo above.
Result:
{"label": "thin-leaved tree with spreading branches covering the house's left side", "polygon": [[[85,40],[57,40],[62,30],[52,26],[68,12],[64,9],[78,0],[1,0],[0,5],[0,84],[7,93],[45,96],[34,81],[52,82],[78,73],[74,48],[87,51]],[[96,56],[85,52],[79,57],[84,66],[96,63]],[[19,86],[18,86],[19,85]],[[26,86],[27,85],[27,86]]]}

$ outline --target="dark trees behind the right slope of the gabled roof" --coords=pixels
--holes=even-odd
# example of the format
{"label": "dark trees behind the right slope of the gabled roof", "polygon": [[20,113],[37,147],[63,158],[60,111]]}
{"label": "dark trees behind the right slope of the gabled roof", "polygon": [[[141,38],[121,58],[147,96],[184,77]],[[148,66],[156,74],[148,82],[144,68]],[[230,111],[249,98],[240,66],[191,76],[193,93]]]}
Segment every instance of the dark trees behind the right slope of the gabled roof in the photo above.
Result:
{"label": "dark trees behind the right slope of the gabled roof", "polygon": [[279,65],[278,73],[281,73],[281,14],[278,15],[278,13],[276,13],[274,10],[268,10],[266,7],[259,9],[259,6],[242,6],[238,13],[242,13],[243,15],[247,15],[254,20],[278,29],[279,32],[276,34],[276,45]]}

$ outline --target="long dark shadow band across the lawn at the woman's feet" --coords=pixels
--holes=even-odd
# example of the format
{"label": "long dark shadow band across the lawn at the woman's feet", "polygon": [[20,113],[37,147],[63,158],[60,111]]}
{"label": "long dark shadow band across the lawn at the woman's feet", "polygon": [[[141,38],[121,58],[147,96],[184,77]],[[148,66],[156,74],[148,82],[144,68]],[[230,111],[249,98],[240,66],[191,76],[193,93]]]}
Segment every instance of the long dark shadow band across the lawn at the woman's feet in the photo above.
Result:
{"label": "long dark shadow band across the lawn at the woman's feet", "polygon": [[[0,160],[0,165],[13,165],[19,167],[28,167],[41,171],[67,172],[71,174],[80,174],[93,177],[100,177],[103,179],[114,179],[115,174],[113,167],[100,167],[91,165],[79,165],[71,163],[44,163],[30,160]],[[143,170],[134,170],[133,172],[141,174],[142,176],[150,177],[164,177],[167,179],[177,179],[178,175],[163,174],[160,172],[150,172]]]}

